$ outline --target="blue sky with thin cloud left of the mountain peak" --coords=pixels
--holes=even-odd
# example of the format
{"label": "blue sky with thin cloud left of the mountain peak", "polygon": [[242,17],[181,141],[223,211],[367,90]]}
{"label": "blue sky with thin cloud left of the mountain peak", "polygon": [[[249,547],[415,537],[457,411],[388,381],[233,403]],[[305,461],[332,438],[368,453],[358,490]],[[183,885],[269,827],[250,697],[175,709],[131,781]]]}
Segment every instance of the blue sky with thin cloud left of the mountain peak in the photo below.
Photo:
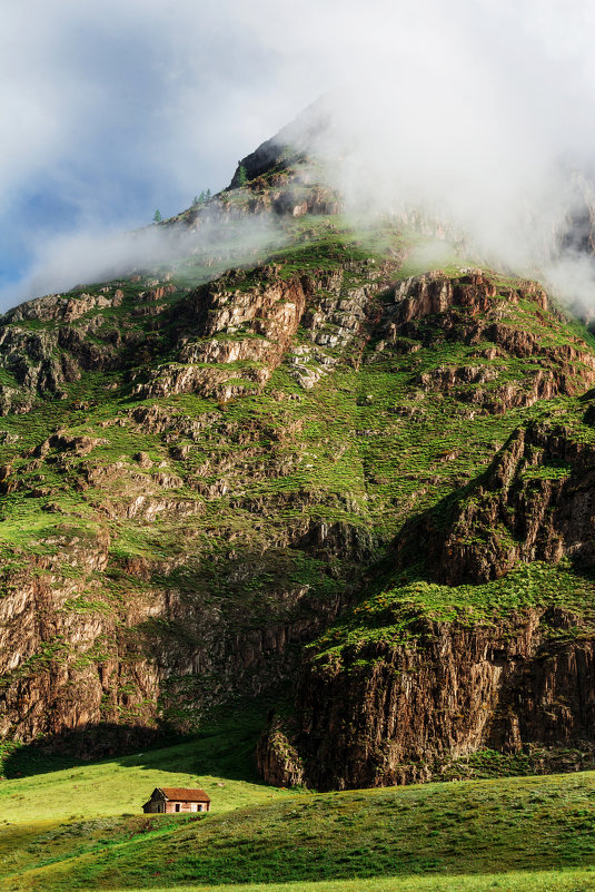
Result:
{"label": "blue sky with thin cloud left of the mountain peak", "polygon": [[[187,207],[311,100],[249,4],[21,0],[0,13],[0,301],[54,238]],[[267,4],[261,7],[268,14]],[[271,33],[272,37],[272,33]]]}

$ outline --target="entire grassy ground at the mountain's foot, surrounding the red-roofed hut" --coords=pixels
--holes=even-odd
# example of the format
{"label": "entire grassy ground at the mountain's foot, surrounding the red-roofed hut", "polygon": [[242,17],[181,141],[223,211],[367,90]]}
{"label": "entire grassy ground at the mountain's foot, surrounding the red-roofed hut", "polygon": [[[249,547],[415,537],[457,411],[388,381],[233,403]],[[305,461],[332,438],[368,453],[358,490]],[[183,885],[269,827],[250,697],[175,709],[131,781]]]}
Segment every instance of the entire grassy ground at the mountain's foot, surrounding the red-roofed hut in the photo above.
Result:
{"label": "entire grassy ground at the mountain's foot, surrounding the red-roofed hut", "polygon": [[[237,738],[225,731],[227,747],[221,734],[211,734],[184,747],[73,766],[68,774],[79,791],[76,814],[61,798],[66,772],[38,775],[37,786],[32,778],[4,782],[1,888],[592,888],[593,772],[296,795],[242,782],[249,768],[244,759],[230,776]],[[175,761],[178,774],[168,776],[180,781],[196,777],[181,773],[184,767],[217,766],[215,777],[199,775],[216,812],[201,820],[115,814],[125,804],[118,798],[123,776],[140,793],[145,774],[146,793],[153,771],[162,776]],[[48,800],[51,815],[43,814]],[[33,821],[27,803],[40,806]]]}

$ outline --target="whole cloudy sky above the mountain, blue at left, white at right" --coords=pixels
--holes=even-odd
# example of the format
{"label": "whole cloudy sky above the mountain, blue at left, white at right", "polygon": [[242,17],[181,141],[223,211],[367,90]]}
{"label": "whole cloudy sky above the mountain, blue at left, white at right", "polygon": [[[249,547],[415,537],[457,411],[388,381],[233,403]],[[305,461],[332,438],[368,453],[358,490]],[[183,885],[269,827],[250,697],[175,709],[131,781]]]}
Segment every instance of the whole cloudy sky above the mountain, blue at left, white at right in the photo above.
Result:
{"label": "whole cloudy sky above the mountain, blue at left, white at right", "polygon": [[0,308],[222,188],[329,90],[356,200],[422,194],[509,257],[595,157],[584,0],[3,0],[0,22]]}

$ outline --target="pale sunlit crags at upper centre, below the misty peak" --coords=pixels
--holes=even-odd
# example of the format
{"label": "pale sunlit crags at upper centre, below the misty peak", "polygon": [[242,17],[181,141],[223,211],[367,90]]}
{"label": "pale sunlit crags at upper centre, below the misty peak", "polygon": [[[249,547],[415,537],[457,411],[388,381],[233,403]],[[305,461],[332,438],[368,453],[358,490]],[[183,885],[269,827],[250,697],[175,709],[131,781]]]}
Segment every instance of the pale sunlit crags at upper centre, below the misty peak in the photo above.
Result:
{"label": "pale sunlit crags at upper centre, below the misty peak", "polygon": [[[232,271],[170,311],[178,362],[136,373],[135,381],[148,380],[132,392],[139,399],[199,393],[227,401],[258,392],[287,354],[291,376],[311,388],[363,334],[367,302],[384,276],[367,262],[300,276],[286,276],[277,265]],[[311,346],[294,343],[300,325]]]}

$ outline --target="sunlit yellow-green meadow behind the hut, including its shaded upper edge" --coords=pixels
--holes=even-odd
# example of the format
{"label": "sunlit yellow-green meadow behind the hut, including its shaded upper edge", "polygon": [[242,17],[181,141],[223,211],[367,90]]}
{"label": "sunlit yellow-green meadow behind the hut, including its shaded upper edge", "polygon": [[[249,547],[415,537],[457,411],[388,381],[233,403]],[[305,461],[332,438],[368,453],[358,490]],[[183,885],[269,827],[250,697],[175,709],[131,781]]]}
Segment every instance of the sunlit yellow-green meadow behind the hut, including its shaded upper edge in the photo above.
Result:
{"label": "sunlit yellow-green meadow behind the hut, including its shaded upper edge", "polygon": [[20,833],[23,824],[31,826],[32,813],[40,825],[138,814],[156,786],[199,786],[218,814],[288,795],[265,786],[256,772],[254,749],[262,724],[258,709],[241,712],[237,721],[206,727],[178,746],[60,771],[47,771],[52,759],[44,764],[34,751],[17,751],[7,767],[28,776],[0,781],[0,830]]}

